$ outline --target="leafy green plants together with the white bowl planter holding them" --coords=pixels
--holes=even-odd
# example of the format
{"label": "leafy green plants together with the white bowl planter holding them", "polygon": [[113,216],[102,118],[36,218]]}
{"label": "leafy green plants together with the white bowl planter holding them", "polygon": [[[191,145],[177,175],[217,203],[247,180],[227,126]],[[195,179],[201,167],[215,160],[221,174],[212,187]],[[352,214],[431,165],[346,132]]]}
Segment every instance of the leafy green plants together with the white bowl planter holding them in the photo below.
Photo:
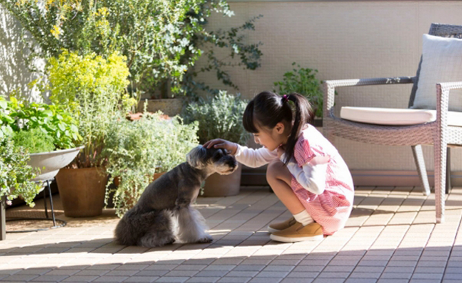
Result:
{"label": "leafy green plants together with the white bowl planter holding them", "polygon": [[[12,93],[19,96],[19,93]],[[36,169],[32,181],[53,179],[58,170],[67,166],[82,147],[77,122],[63,110],[63,106],[45,103],[20,102],[14,96],[10,101],[0,98],[10,113],[12,139],[17,146],[30,152],[28,164]]]}

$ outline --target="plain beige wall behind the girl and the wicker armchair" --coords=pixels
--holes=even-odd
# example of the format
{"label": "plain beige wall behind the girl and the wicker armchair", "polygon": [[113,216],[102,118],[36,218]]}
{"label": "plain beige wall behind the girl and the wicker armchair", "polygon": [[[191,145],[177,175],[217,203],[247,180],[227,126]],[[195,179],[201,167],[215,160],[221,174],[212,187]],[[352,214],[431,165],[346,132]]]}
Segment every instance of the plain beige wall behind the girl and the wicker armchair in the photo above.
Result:
{"label": "plain beige wall behind the girl and the wicker armchair", "polygon": [[[263,14],[251,42],[261,41],[261,68],[231,69],[232,80],[246,98],[272,90],[292,69],[292,62],[318,69],[320,80],[415,76],[421,54],[421,36],[430,23],[462,25],[461,1],[360,2],[231,2],[232,18],[214,16],[210,28],[238,26]],[[201,65],[199,61],[199,66]],[[214,87],[214,74],[201,79]],[[408,86],[339,89],[336,107],[381,106],[406,108]],[[337,138],[338,150],[352,170],[415,170],[407,147],[373,146]],[[452,150],[452,170],[462,170],[462,150]],[[432,147],[425,146],[428,170]]]}

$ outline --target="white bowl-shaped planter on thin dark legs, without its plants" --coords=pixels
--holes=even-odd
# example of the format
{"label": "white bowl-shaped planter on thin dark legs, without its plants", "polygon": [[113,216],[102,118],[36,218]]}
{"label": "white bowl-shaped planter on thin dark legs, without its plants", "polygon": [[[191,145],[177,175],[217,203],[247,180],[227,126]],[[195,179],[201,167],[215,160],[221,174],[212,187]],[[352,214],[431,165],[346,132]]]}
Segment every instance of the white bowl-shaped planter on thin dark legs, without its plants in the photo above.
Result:
{"label": "white bowl-shaped planter on thin dark legs, without its plants", "polygon": [[[85,146],[50,152],[32,153],[28,164],[33,168],[39,168],[41,173],[32,181],[45,181],[53,179],[61,168],[71,163],[78,152]],[[45,167],[45,168],[44,168]]]}

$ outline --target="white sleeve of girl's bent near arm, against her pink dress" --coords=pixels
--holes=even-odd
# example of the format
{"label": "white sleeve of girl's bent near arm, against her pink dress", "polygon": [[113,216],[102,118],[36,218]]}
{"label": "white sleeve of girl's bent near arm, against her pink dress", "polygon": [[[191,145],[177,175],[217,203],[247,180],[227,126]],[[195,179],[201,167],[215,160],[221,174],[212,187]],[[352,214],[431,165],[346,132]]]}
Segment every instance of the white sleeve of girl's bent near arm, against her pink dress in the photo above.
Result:
{"label": "white sleeve of girl's bent near arm, against her pink dress", "polygon": [[316,164],[315,166],[306,163],[299,167],[294,159],[287,163],[287,169],[294,176],[300,185],[313,194],[322,194],[326,188],[327,164]]}

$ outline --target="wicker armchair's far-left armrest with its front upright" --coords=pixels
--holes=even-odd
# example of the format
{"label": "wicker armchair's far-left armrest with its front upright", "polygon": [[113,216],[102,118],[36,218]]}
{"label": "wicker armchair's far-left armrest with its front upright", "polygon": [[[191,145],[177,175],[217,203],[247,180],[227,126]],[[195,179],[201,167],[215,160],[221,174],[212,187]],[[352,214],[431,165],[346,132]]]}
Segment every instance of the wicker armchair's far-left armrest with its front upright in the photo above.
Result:
{"label": "wicker armchair's far-left armrest with its front upright", "polygon": [[333,117],[333,103],[336,87],[360,87],[376,84],[410,84],[415,77],[396,78],[360,78],[354,80],[325,80],[324,85],[324,117]]}

